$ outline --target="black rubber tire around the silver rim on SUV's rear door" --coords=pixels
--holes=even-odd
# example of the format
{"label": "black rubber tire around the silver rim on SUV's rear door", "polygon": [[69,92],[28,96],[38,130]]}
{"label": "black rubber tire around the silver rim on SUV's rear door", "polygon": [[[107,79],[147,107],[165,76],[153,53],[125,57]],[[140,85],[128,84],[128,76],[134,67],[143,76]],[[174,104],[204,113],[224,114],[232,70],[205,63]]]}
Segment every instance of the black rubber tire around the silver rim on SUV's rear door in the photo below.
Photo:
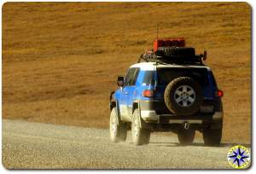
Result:
{"label": "black rubber tire around the silver rim on SUV's rear door", "polygon": [[[182,85],[188,85],[195,91],[195,102],[193,102],[188,107],[179,106],[178,103],[175,102],[175,91]],[[195,82],[194,79],[189,77],[180,77],[173,79],[172,82],[167,84],[164,97],[166,107],[172,113],[180,116],[189,116],[198,112],[203,98],[200,84],[198,84],[197,82]]]}

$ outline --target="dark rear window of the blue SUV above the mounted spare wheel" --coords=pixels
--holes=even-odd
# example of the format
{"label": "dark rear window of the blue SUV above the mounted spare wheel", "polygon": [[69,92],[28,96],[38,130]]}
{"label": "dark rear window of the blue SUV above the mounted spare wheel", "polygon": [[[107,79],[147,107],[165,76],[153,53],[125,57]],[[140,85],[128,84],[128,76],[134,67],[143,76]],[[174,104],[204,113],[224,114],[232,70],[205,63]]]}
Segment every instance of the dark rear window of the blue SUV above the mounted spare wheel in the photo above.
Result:
{"label": "dark rear window of the blue SUV above the mounted spare wheel", "polygon": [[207,68],[158,68],[157,69],[158,84],[169,84],[174,78],[190,77],[195,79],[201,85],[207,85]]}

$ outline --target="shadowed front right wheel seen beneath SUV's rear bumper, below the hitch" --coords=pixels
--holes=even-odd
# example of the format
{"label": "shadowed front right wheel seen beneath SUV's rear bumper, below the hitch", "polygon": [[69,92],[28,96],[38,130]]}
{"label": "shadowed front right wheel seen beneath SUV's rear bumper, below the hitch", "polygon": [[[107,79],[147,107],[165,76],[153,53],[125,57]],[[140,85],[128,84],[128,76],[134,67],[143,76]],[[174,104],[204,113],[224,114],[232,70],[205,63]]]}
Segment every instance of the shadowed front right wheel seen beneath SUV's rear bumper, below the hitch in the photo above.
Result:
{"label": "shadowed front right wheel seen beneath SUV's rear bumper, below the hitch", "polygon": [[181,129],[177,132],[177,139],[182,145],[192,144],[195,139],[195,130]]}

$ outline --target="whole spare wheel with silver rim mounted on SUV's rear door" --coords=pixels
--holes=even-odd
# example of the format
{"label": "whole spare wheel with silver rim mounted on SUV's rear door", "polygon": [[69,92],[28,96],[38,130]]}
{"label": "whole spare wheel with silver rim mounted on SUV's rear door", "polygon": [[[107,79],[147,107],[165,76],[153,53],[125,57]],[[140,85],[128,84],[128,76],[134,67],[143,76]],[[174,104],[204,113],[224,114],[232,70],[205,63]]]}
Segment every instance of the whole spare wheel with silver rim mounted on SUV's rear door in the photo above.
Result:
{"label": "whole spare wheel with silver rim mounted on SUV's rear door", "polygon": [[180,116],[192,115],[200,109],[202,102],[201,85],[189,77],[175,78],[165,90],[166,107]]}

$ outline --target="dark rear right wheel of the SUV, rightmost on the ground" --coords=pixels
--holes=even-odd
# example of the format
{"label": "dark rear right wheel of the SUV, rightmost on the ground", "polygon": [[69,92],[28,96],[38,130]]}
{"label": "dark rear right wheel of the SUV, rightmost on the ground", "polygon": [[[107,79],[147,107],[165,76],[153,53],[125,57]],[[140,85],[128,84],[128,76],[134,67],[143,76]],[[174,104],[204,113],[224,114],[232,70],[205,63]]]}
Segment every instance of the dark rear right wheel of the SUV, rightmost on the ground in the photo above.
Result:
{"label": "dark rear right wheel of the SUV, rightmost on the ground", "polygon": [[206,146],[219,146],[222,137],[222,121],[220,122],[220,128],[218,129],[204,129],[203,139]]}

